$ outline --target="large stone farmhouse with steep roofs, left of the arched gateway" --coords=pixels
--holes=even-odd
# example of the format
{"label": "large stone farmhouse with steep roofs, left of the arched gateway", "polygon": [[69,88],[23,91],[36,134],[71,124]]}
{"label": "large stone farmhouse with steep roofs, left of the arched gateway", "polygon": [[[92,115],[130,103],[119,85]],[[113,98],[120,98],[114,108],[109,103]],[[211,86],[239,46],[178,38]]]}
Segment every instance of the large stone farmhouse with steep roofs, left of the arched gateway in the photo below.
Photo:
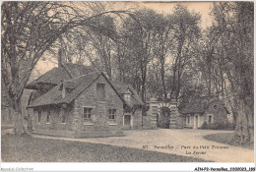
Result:
{"label": "large stone farmhouse with steep roofs, left of the arched gateway", "polygon": [[122,136],[151,128],[132,86],[110,82],[91,66],[61,63],[31,84],[28,111],[36,134],[70,138]]}

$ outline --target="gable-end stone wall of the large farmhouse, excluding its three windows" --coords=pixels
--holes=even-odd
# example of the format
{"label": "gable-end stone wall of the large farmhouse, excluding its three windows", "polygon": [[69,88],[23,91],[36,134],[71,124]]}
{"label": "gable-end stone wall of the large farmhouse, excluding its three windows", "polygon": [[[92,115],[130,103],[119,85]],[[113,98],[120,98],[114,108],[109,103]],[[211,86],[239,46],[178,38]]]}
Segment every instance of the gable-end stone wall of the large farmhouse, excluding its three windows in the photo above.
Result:
{"label": "gable-end stone wall of the large farmhouse, excluding its three windows", "polygon": [[[104,84],[105,100],[96,100],[96,84]],[[92,121],[83,122],[84,107],[93,108]],[[115,120],[108,119],[108,110],[116,109]],[[81,137],[120,136],[123,126],[123,102],[107,81],[100,76],[75,100],[72,130]]]}

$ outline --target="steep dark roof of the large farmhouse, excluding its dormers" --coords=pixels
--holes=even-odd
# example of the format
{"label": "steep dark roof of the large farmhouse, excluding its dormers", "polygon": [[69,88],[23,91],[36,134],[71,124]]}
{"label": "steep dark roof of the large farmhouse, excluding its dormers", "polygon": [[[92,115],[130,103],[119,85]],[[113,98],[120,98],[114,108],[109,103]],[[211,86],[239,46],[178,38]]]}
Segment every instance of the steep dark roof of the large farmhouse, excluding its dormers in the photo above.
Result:
{"label": "steep dark roof of the large farmhouse, excluding its dormers", "polygon": [[[61,67],[53,68],[52,70],[46,72],[42,76],[38,77],[32,83],[26,86],[26,88],[42,88],[48,87],[47,92],[36,96],[28,107],[48,105],[48,104],[58,104],[58,103],[70,103],[76,96],[78,96],[81,91],[85,90],[90,86],[97,77],[102,75],[110,86],[116,91],[118,96],[123,99],[123,93],[128,88],[133,92],[132,104],[131,105],[144,105],[140,96],[136,93],[131,85],[110,82],[107,77],[92,66],[84,66],[72,63],[62,63]],[[66,97],[61,97],[61,87],[65,86],[69,89],[66,93]],[[41,90],[41,89],[40,89]]]}

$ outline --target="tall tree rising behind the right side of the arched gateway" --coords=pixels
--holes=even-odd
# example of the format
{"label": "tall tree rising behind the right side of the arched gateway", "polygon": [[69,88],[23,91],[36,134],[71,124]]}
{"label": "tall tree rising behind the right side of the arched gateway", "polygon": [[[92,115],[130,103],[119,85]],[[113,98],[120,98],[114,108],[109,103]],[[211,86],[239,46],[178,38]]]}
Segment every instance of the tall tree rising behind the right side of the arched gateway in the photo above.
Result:
{"label": "tall tree rising behind the right side of the arched gateway", "polygon": [[182,75],[186,71],[187,64],[194,56],[194,49],[197,48],[197,42],[201,35],[199,28],[200,15],[191,13],[185,6],[178,4],[175,6],[174,13],[170,16],[172,25],[172,43],[171,54],[172,61],[172,79],[171,96],[176,100],[179,97],[181,89]]}

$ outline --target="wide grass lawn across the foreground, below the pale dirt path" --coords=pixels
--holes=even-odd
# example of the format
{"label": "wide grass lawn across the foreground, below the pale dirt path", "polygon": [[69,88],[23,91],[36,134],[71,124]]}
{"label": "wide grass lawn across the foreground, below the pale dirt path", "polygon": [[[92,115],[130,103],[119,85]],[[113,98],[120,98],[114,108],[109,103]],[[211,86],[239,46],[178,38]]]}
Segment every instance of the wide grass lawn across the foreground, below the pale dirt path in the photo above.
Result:
{"label": "wide grass lawn across the foreground, below the pale dirt path", "polygon": [[4,162],[203,162],[175,154],[99,143],[2,136]]}

